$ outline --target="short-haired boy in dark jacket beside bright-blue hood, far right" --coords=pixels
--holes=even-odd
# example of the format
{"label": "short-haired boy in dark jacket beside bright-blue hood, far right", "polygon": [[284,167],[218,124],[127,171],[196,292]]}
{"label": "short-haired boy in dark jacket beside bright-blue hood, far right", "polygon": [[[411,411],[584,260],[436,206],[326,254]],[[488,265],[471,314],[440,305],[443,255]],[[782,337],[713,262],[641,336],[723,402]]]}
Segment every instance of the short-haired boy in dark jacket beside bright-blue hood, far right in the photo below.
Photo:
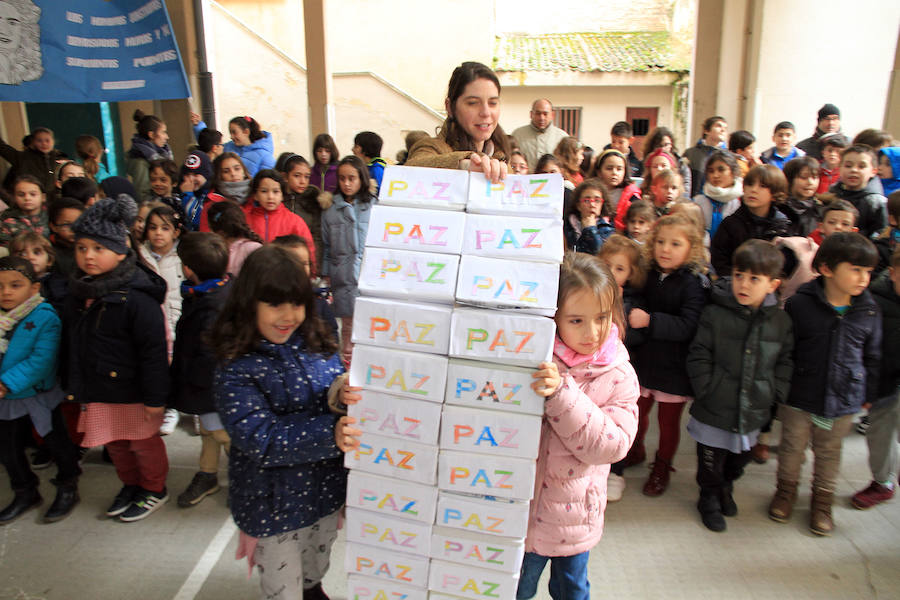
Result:
{"label": "short-haired boy in dark jacket beside bright-blue hood, far right", "polygon": [[875,152],[868,146],[854,145],[841,155],[841,180],[828,190],[859,211],[857,226],[865,237],[887,227],[887,199],[875,178]]}

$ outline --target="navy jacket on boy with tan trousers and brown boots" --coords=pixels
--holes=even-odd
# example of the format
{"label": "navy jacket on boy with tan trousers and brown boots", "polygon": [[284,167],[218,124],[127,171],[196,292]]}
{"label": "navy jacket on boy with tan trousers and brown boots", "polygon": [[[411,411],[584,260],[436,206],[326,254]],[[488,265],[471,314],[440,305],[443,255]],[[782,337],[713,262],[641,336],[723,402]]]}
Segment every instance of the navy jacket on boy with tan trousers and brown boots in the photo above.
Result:
{"label": "navy jacket on boy with tan trousers and brown boots", "polygon": [[878,397],[881,309],[868,290],[840,315],[825,298],[824,278],[788,298],[794,321],[794,377],[787,403],[823,417],[859,412]]}

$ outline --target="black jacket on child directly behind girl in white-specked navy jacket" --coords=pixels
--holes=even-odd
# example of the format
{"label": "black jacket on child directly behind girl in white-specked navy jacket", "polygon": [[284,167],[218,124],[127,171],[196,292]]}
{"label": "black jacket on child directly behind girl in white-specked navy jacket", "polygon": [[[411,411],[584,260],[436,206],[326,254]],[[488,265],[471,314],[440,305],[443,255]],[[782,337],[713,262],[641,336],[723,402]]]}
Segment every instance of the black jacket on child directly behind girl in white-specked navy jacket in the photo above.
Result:
{"label": "black jacket on child directly behind girl in white-specked navy jacket", "polygon": [[230,284],[210,288],[196,294],[183,294],[181,317],[175,326],[172,354],[172,394],[169,406],[191,415],[216,412],[213,379],[216,356],[205,334],[222,310]]}

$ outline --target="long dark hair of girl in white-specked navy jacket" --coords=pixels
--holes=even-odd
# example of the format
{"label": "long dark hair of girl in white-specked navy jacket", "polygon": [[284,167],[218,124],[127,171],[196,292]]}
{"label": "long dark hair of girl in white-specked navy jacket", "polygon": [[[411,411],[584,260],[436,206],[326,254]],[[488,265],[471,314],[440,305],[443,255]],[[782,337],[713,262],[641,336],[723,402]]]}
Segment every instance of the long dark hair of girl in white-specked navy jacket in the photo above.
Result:
{"label": "long dark hair of girl in white-specked navy jacket", "polygon": [[286,248],[269,245],[251,253],[244,261],[211,330],[209,341],[221,360],[247,354],[260,343],[256,326],[259,302],[305,306],[306,319],[299,331],[306,350],[317,354],[332,354],[337,350],[337,343],[316,313],[316,295],[299,258]]}

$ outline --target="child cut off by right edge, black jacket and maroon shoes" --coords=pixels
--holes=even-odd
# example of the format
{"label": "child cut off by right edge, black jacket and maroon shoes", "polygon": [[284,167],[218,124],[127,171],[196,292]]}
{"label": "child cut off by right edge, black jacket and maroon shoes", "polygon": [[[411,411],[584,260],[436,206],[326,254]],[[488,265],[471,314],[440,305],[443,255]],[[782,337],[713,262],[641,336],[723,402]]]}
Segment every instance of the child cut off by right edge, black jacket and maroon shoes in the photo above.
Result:
{"label": "child cut off by right edge, black jacket and maroon shoes", "polygon": [[[892,196],[900,194],[894,192]],[[881,307],[881,377],[879,400],[869,408],[869,468],[872,483],[853,495],[854,507],[865,510],[894,497],[897,480],[897,431],[900,429],[900,248],[894,250],[890,269],[869,288]]]}

